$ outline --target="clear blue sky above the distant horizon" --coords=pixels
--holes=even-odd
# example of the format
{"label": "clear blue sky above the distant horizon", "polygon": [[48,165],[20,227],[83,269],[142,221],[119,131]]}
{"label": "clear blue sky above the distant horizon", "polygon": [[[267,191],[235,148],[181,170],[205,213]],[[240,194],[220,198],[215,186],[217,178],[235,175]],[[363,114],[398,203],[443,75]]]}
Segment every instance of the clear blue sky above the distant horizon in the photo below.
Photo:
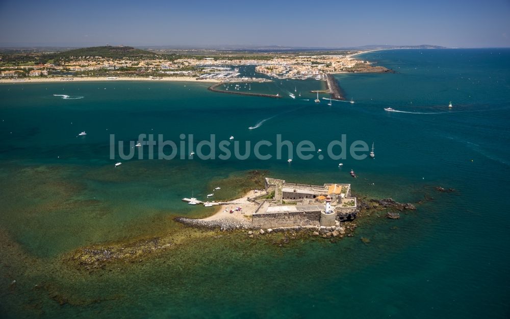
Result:
{"label": "clear blue sky above the distant horizon", "polygon": [[0,0],[0,46],[510,46],[510,0]]}

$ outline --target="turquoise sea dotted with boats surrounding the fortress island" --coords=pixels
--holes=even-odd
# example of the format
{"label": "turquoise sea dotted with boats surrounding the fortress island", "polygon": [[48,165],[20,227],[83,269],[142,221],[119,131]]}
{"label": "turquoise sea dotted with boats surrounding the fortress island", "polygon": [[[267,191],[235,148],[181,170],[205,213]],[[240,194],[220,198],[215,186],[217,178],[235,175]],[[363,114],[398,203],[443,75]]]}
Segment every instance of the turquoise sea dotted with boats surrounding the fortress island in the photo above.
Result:
{"label": "turquoise sea dotted with boats surrounding the fortress island", "polygon": [[[310,90],[324,87],[315,80],[251,85],[282,99],[189,82],[0,85],[0,317],[509,317],[510,50],[359,58],[397,73],[337,75],[355,103],[332,106],[313,102]],[[348,144],[374,142],[376,156],[288,164],[253,155],[148,160],[145,150],[141,160],[110,159],[110,134],[134,141],[142,133],[177,143],[193,134],[195,146],[210,134],[241,143],[282,134],[323,150],[346,134]],[[174,216],[214,212],[183,197],[205,198],[219,184],[217,199],[235,197],[236,177],[253,169],[290,182],[347,182],[354,193],[418,209],[359,220],[355,236],[337,243],[279,247],[221,233],[90,274],[66,266],[82,247],[183,232]]]}

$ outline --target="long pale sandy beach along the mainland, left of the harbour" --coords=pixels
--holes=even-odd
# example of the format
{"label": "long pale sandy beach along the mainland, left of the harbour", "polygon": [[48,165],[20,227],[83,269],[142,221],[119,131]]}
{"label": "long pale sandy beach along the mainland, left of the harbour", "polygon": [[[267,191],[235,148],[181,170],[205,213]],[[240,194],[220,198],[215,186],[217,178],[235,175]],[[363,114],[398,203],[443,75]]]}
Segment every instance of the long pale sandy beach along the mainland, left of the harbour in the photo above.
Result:
{"label": "long pale sandy beach along the mainland, left of the harbour", "polygon": [[73,80],[64,80],[62,77],[58,78],[23,78],[16,80],[24,80],[24,81],[15,81],[14,79],[0,79],[0,83],[49,83],[49,82],[118,82],[118,81],[151,81],[151,82],[197,82],[197,83],[219,83],[220,80],[216,79],[203,79],[197,80],[194,77],[163,77],[161,79],[151,79],[151,78],[136,78],[136,77],[117,77],[115,80],[109,80],[108,77],[73,77]]}

